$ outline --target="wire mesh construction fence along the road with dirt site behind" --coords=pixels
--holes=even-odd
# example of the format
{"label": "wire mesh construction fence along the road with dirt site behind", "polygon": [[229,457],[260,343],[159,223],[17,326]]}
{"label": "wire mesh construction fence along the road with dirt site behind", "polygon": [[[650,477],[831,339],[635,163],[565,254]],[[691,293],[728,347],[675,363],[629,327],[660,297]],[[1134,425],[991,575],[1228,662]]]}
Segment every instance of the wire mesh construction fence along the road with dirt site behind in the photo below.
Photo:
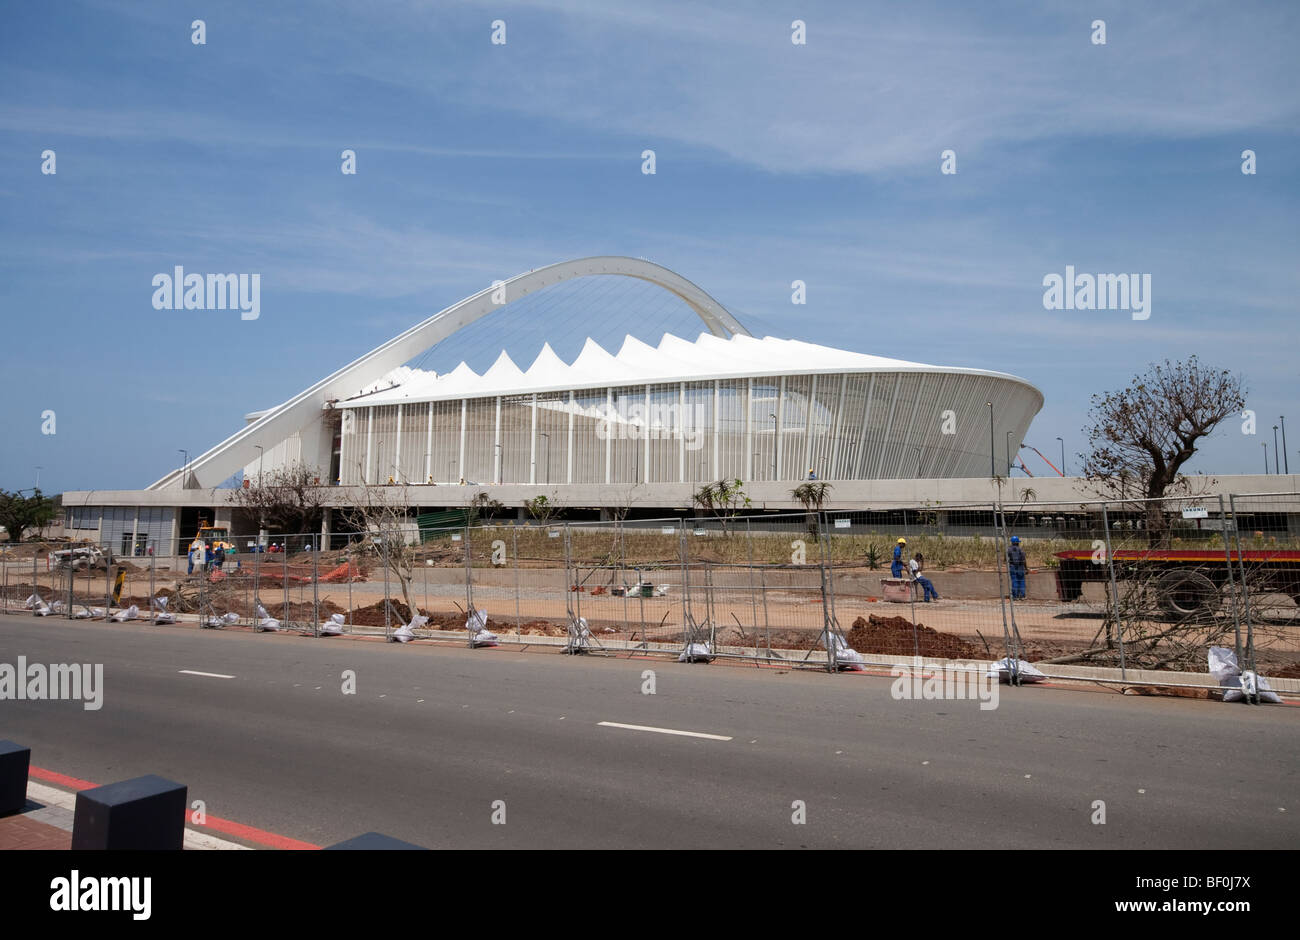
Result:
{"label": "wire mesh construction fence along the road with dirt site behind", "polygon": [[[823,670],[1008,660],[1013,679],[1027,662],[1150,684],[1206,672],[1222,647],[1242,670],[1300,677],[1295,494],[1046,504],[1024,491],[909,512],[406,520],[228,542],[220,559],[10,545],[0,610]],[[289,551],[233,550],[248,545]]]}

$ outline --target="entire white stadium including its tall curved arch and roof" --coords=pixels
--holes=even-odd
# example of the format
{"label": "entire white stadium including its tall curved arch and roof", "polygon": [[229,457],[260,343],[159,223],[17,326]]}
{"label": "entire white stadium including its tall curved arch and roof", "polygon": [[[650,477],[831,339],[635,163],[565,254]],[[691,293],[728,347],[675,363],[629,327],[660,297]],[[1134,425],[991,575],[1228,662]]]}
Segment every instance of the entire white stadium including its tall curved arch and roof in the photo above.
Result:
{"label": "entire white stadium including its tall curved arch and roof", "polygon": [[[640,278],[680,298],[706,332],[627,337],[616,352],[588,339],[573,361],[543,345],[520,368],[503,351],[477,373],[410,368],[447,337],[523,296],[586,277]],[[225,502],[217,488],[278,467],[316,468],[330,502],[365,485],[404,484],[412,504],[464,504],[448,484],[495,486],[507,506],[554,491],[603,508],[636,488],[646,507],[680,507],[705,481],[763,489],[819,480],[989,480],[1006,473],[1043,406],[1015,376],[885,359],[775,337],[753,337],[680,274],[642,259],[590,257],[497,282],[394,337],[290,400],[246,416],[229,438],[146,490],[66,494],[77,527],[113,507],[179,510]],[[1014,442],[1014,446],[1011,446]],[[685,489],[684,489],[685,488]],[[838,488],[837,488],[838,489]],[[211,493],[211,497],[204,497]],[[776,490],[774,489],[774,494]],[[620,497],[625,499],[625,497]],[[114,510],[113,515],[118,515]],[[222,515],[214,508],[214,515]],[[152,516],[151,516],[152,517]],[[177,523],[177,512],[164,512]],[[152,528],[152,525],[151,525]]]}

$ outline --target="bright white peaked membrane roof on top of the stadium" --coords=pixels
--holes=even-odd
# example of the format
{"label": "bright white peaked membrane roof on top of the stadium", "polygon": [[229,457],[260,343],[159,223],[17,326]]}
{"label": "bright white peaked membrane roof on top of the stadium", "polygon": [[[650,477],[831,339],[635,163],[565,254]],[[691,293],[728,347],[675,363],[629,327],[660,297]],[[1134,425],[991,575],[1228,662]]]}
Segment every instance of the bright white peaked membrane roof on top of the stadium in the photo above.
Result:
{"label": "bright white peaked membrane roof on top of the stadium", "polygon": [[1001,372],[910,363],[798,339],[758,339],[741,334],[723,338],[701,333],[690,342],[670,333],[658,347],[628,335],[615,355],[588,338],[572,363],[562,360],[546,343],[526,371],[521,371],[504,350],[482,374],[465,363],[441,374],[403,365],[363,389],[358,397],[339,402],[338,407],[810,372],[949,372],[1023,381]]}

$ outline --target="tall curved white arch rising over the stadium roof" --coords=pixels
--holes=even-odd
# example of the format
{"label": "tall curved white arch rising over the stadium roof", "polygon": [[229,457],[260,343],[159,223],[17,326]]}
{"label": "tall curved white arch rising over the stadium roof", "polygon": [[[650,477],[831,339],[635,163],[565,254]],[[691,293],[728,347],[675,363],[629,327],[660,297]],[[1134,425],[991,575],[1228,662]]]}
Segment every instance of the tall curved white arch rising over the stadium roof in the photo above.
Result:
{"label": "tall curved white arch rising over the stadium roof", "polygon": [[[411,361],[434,343],[442,342],[452,333],[473,321],[502,308],[494,303],[493,295],[504,290],[506,303],[542,287],[550,287],[575,277],[614,274],[649,281],[681,298],[708,328],[708,332],[725,337],[732,334],[749,335],[725,307],[708,296],[698,286],[681,274],[663,265],[641,257],[620,257],[616,255],[582,257],[573,261],[560,261],[545,268],[516,274],[503,285],[489,286],[467,296],[464,300],[434,313],[428,320],[416,324],[407,332],[394,337],[382,346],[370,350],[360,359],[348,363],[338,372],[322,378],[316,385],[299,393],[283,404],[264,412],[256,421],[231,434],[216,447],[200,454],[188,465],[188,476],[182,480],[185,468],[177,468],[148,489],[168,486],[202,489],[216,486],[235,471],[247,467],[257,456],[257,442],[270,446],[283,441],[295,432],[307,432],[321,408],[332,399],[356,394],[363,386],[382,377],[396,367]],[[320,423],[317,423],[320,428]],[[316,433],[324,434],[324,429]],[[303,441],[304,451],[328,452],[329,441]],[[326,468],[328,469],[328,468]]]}

